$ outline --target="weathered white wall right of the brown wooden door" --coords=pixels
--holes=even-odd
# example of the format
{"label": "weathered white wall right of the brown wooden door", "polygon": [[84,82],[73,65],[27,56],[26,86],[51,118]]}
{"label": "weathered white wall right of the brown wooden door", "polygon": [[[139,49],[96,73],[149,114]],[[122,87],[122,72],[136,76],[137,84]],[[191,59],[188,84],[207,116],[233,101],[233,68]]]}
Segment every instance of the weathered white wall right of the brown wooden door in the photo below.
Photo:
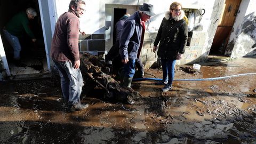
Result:
{"label": "weathered white wall right of the brown wooden door", "polygon": [[243,0],[225,54],[232,58],[256,55],[256,1]]}

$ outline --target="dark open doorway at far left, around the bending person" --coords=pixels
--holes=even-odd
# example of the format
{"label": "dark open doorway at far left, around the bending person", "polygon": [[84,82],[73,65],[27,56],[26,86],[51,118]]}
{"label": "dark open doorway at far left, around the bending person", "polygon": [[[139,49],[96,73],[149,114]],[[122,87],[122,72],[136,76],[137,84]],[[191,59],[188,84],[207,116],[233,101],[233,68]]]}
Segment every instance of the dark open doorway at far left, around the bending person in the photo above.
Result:
{"label": "dark open doorway at far left, around the bending person", "polygon": [[[10,11],[11,7],[11,11]],[[28,7],[36,10],[37,16],[33,20],[29,20],[29,28],[36,37],[36,42],[32,42],[31,38],[25,33],[19,37],[21,45],[20,61],[27,65],[26,67],[18,67],[13,60],[13,48],[7,42],[2,29],[7,22],[17,13],[26,11]],[[11,79],[27,79],[33,75],[42,75],[49,72],[47,67],[45,44],[42,30],[41,15],[37,0],[18,0],[18,1],[1,1],[0,3],[0,29],[3,42],[4,52],[6,55],[7,65],[10,71]]]}

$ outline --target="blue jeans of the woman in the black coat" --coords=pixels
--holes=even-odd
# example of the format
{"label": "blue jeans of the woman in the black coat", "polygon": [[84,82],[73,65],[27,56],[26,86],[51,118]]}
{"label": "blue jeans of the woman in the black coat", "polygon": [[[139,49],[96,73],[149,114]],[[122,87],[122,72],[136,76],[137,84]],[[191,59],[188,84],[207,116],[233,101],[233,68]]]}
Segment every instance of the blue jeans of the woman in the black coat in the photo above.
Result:
{"label": "blue jeans of the woman in the black coat", "polygon": [[167,82],[168,85],[172,85],[174,79],[174,68],[176,60],[163,59],[161,58],[163,68],[163,81]]}

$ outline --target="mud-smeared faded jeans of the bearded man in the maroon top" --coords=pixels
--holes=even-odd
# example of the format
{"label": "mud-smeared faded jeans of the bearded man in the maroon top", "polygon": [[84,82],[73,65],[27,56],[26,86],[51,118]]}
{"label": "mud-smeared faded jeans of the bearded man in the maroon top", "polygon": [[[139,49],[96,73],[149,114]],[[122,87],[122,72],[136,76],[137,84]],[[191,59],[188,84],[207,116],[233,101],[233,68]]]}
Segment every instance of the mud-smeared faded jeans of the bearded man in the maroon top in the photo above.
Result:
{"label": "mud-smeared faded jeans of the bearded man in the maroon top", "polygon": [[81,70],[74,69],[70,61],[57,61],[53,60],[57,66],[60,74],[61,90],[64,100],[68,105],[75,105],[81,103],[80,95],[83,87],[83,77]]}

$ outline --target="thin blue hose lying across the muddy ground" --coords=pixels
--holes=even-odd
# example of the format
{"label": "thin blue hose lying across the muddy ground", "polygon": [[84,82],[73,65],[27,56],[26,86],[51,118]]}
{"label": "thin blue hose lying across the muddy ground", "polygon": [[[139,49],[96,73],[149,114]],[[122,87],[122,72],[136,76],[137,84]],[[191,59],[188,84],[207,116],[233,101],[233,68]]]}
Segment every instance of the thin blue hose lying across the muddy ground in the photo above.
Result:
{"label": "thin blue hose lying across the muddy ground", "polygon": [[[212,77],[212,78],[173,79],[173,81],[215,81],[215,80],[219,80],[219,79],[225,79],[225,78],[236,77],[236,76],[244,76],[244,75],[256,75],[256,73],[237,74],[237,75]],[[133,82],[146,81],[146,80],[162,81],[163,79],[162,78],[134,78],[134,79],[132,79]]]}

